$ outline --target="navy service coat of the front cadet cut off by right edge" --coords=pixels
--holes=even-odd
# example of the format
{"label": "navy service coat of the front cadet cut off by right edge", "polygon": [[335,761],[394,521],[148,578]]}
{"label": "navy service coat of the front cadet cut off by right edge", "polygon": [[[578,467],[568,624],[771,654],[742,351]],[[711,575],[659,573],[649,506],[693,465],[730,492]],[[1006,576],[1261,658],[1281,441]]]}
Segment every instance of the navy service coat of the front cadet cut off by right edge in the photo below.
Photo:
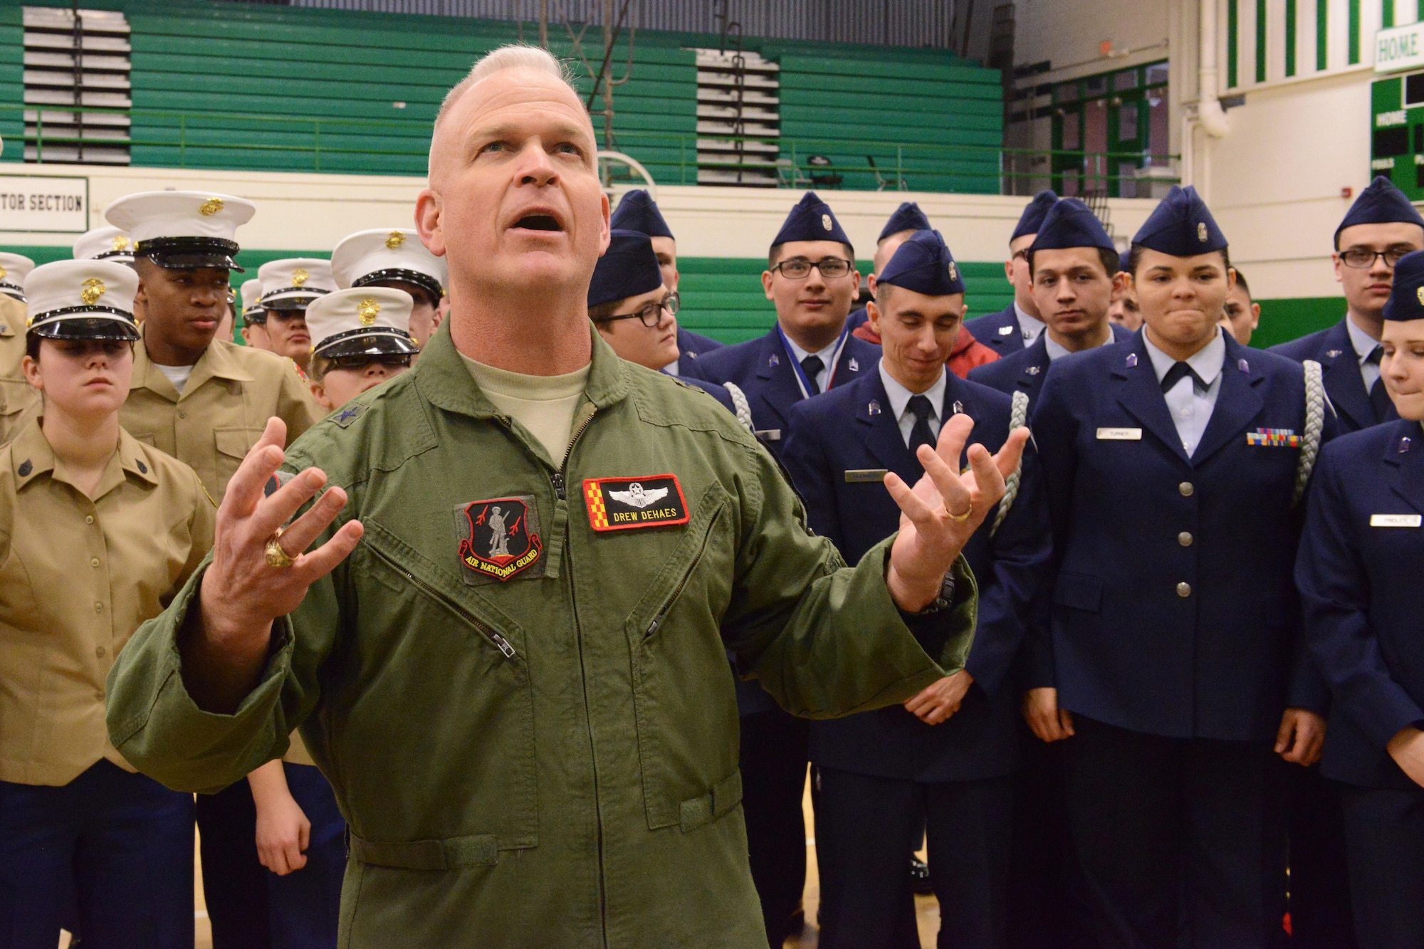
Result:
{"label": "navy service coat of the front cadet cut off by right edge", "polygon": [[1326,446],[1296,560],[1306,634],[1334,702],[1326,777],[1410,788],[1386,751],[1424,727],[1424,430],[1396,420]]}

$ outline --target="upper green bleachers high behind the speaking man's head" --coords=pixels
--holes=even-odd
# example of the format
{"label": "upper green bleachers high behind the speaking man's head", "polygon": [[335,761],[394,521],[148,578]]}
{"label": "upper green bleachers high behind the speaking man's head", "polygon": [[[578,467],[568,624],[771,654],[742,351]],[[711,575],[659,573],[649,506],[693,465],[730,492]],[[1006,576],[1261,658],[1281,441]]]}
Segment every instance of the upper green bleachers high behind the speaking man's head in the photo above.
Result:
{"label": "upper green bleachers high behind the speaking man's head", "polygon": [[[63,0],[31,6],[68,7]],[[85,0],[132,30],[135,165],[419,175],[444,93],[483,53],[535,27],[497,20],[204,0]],[[597,70],[601,27],[584,51]],[[696,64],[712,34],[639,31],[614,93],[614,148],[659,184],[696,182]],[[748,38],[782,64],[782,157],[833,160],[846,188],[899,167],[911,190],[998,191],[1000,77],[944,50]],[[550,48],[572,57],[562,26]],[[622,77],[628,36],[612,56]],[[577,77],[587,91],[590,76]],[[21,3],[0,0],[0,135],[23,120]],[[4,108],[9,105],[9,108]],[[601,97],[592,110],[601,111]],[[889,118],[887,118],[889,117]],[[602,135],[602,115],[594,117]],[[889,142],[889,130],[896,130]],[[863,141],[866,144],[847,144]],[[23,150],[9,148],[6,161]]]}

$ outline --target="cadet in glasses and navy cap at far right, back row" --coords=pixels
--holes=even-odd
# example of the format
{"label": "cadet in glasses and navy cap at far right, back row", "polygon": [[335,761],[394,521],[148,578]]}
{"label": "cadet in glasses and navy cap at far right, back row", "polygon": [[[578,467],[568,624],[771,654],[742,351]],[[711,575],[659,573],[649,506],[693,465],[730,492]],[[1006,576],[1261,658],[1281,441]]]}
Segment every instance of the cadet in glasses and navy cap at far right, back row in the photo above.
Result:
{"label": "cadet in glasses and navy cap at far right, back row", "polygon": [[1344,319],[1330,329],[1272,346],[1272,352],[1297,362],[1320,363],[1341,432],[1398,418],[1380,380],[1381,312],[1390,298],[1394,265],[1420,249],[1424,249],[1424,218],[1388,178],[1377,177],[1350,205],[1334,234],[1330,259],[1344,289]]}

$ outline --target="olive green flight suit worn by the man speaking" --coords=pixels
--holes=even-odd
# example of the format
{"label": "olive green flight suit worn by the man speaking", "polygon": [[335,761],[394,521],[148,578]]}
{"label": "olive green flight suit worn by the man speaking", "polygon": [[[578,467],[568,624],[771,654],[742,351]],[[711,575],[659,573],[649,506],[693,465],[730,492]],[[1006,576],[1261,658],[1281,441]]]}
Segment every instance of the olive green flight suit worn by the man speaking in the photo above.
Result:
{"label": "olive green flight suit worn by the man speaking", "polygon": [[[911,633],[889,543],[844,569],[729,412],[592,341],[561,465],[481,395],[447,329],[293,445],[286,470],[320,466],[366,533],[276,624],[234,715],[184,687],[201,571],[108,680],[114,745],[172,788],[238,781],[302,727],[350,824],[342,946],[765,948],[723,644],[806,717],[963,667],[963,560],[953,607]],[[611,507],[585,479],[602,477],[676,487],[646,510],[688,520],[594,530]],[[471,507],[491,500],[497,516]],[[506,580],[467,566],[500,543],[501,570],[538,554]]]}

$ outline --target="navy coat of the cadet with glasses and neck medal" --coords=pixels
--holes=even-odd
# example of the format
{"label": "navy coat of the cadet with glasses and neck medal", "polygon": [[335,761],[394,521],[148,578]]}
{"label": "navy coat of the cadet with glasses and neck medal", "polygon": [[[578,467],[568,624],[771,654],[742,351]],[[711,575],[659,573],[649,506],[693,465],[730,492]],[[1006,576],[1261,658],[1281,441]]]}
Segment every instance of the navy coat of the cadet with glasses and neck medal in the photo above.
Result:
{"label": "navy coat of the cadet with glasses and neck medal", "polygon": [[[880,362],[880,346],[849,336],[836,361],[832,388],[873,373]],[[802,400],[792,356],[782,345],[776,328],[760,339],[723,346],[701,358],[698,376],[709,382],[732,382],[742,388],[752,406],[752,425],[758,437],[780,455],[790,429],[790,409]]]}

